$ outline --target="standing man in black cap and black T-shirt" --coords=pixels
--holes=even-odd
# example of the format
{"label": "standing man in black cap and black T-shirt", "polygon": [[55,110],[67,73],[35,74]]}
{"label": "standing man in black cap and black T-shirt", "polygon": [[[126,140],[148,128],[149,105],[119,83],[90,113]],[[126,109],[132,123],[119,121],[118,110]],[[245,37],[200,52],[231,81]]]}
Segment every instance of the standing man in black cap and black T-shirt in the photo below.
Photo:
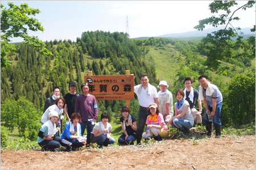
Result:
{"label": "standing man in black cap and black T-shirt", "polygon": [[75,82],[70,82],[68,85],[68,88],[69,88],[69,93],[65,94],[63,98],[66,101],[66,104],[64,107],[64,113],[67,117],[67,121],[70,121],[71,115],[75,112],[76,98],[81,94],[75,91],[76,90]]}

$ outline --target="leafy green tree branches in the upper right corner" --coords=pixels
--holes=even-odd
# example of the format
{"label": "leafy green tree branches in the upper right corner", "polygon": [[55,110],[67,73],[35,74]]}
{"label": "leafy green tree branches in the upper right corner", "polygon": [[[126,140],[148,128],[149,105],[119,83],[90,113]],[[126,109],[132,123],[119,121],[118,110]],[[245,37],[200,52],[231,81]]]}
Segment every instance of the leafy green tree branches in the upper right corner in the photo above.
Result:
{"label": "leafy green tree branches in the upper right corner", "polygon": [[[224,29],[214,31],[212,34],[209,33],[200,43],[199,52],[203,50],[207,52],[207,61],[205,63],[210,70],[216,71],[220,67],[221,73],[226,74],[228,66],[221,67],[221,61],[229,62],[231,59],[241,56],[249,59],[255,58],[255,36],[242,40],[242,36],[238,33],[241,28],[234,28],[231,24],[233,20],[240,20],[240,18],[234,15],[238,10],[246,10],[253,7],[254,4],[255,1],[247,1],[234,11],[231,11],[230,8],[237,6],[237,1],[214,1],[209,4],[209,10],[212,14],[219,11],[226,12],[226,14],[219,15],[219,17],[211,16],[210,18],[200,20],[199,25],[194,27],[199,31],[203,31],[205,24],[210,24],[213,27],[225,25]],[[228,26],[230,27],[228,28]],[[255,25],[251,32],[255,32]],[[232,41],[232,38],[236,38],[236,42]],[[240,50],[242,53],[238,53]]]}

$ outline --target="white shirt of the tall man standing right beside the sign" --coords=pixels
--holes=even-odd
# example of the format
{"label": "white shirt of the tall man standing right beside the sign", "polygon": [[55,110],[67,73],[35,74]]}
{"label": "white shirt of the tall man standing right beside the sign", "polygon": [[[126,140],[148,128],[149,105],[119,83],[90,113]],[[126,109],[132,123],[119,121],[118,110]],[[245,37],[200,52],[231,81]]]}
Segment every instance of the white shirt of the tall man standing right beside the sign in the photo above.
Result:
{"label": "white shirt of the tall man standing right beside the sign", "polygon": [[146,90],[142,87],[141,88],[141,94],[138,94],[138,89],[141,84],[134,86],[134,92],[138,96],[139,99],[139,105],[142,107],[148,108],[151,103],[155,103],[155,99],[158,97],[158,92],[156,91],[155,86],[152,86],[151,84],[148,84],[148,86],[151,86],[151,92],[150,96],[147,95],[147,88]]}

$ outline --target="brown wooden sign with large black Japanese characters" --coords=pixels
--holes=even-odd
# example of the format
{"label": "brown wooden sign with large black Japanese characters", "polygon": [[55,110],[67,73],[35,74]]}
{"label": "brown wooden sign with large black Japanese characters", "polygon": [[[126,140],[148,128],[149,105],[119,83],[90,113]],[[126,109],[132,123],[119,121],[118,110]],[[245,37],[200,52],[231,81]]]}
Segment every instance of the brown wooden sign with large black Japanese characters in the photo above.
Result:
{"label": "brown wooden sign with large black Japanese characters", "polygon": [[133,75],[85,75],[89,84],[89,94],[96,100],[133,100]]}

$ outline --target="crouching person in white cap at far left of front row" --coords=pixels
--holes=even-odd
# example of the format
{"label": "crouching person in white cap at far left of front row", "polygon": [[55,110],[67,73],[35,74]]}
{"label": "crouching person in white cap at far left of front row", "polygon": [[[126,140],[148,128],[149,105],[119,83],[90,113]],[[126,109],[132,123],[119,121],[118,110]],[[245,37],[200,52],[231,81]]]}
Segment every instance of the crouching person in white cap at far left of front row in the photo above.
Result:
{"label": "crouching person in white cap at far left of front row", "polygon": [[59,116],[56,111],[49,112],[49,120],[46,121],[40,128],[38,133],[38,145],[42,147],[42,151],[55,151],[60,145],[64,145],[61,142],[61,137],[56,136],[57,128],[55,122]]}

